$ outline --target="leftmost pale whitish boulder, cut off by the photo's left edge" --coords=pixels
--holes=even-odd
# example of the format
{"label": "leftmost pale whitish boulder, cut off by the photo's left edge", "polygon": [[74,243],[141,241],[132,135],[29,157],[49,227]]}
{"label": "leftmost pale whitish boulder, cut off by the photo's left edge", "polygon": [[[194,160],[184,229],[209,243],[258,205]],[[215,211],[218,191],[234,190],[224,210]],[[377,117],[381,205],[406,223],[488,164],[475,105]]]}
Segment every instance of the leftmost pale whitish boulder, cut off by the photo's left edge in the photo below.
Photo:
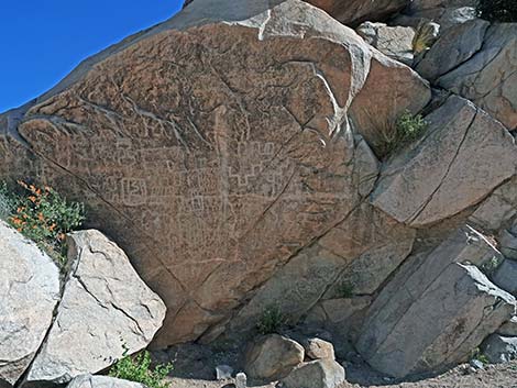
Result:
{"label": "leftmost pale whitish boulder, cut off by the photo's left edge", "polygon": [[0,221],[0,387],[13,386],[40,348],[59,300],[59,270]]}

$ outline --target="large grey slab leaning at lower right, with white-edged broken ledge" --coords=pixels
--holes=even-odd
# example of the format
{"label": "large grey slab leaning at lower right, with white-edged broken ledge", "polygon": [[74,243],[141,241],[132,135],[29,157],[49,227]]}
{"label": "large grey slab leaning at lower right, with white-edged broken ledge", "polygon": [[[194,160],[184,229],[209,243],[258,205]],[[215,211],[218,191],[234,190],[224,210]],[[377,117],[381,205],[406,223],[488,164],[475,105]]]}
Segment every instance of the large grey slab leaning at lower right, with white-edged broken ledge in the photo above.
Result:
{"label": "large grey slab leaning at lower right, with white-edged broken ledge", "polygon": [[370,308],[358,350],[395,377],[440,370],[468,359],[515,313],[515,298],[476,266],[498,252],[461,229],[432,252],[409,257]]}

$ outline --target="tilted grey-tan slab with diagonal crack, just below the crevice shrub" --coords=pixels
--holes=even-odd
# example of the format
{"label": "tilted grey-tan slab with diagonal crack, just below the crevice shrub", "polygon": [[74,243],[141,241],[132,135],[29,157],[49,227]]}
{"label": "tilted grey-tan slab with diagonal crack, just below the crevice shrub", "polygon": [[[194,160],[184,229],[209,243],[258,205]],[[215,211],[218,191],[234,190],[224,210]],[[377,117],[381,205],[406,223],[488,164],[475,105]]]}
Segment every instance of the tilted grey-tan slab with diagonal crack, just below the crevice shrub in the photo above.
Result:
{"label": "tilted grey-tan slab with diagonal crack, just below the crevice shrub", "polygon": [[514,176],[517,159],[509,132],[462,98],[449,98],[426,121],[426,136],[389,160],[371,199],[417,228],[479,203]]}

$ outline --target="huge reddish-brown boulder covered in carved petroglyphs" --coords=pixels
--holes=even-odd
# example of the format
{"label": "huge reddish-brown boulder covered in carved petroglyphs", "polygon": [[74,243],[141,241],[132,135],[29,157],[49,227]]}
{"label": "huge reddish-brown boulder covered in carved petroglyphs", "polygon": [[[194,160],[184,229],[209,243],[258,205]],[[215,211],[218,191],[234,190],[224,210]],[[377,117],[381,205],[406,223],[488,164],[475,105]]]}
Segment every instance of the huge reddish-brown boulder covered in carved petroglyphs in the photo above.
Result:
{"label": "huge reddish-brown boulder covered in carved petroglyphs", "polygon": [[0,117],[0,176],[86,201],[165,300],[166,346],[231,317],[367,195],[352,104],[393,121],[429,98],[306,2],[196,0]]}

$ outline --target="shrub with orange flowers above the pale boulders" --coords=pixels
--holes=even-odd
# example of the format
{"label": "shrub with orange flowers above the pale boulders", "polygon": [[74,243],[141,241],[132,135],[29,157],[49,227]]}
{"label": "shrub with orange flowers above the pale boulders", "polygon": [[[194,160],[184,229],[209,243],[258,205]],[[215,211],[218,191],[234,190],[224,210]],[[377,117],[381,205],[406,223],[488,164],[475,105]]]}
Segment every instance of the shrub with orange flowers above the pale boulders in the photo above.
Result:
{"label": "shrub with orange flowers above the pale boulders", "polygon": [[[19,181],[21,191],[9,191],[0,186],[2,217],[20,233],[56,253],[59,260],[65,255],[66,233],[79,228],[85,220],[85,207],[68,202],[50,187],[37,187]],[[56,258],[56,255],[52,255]]]}

